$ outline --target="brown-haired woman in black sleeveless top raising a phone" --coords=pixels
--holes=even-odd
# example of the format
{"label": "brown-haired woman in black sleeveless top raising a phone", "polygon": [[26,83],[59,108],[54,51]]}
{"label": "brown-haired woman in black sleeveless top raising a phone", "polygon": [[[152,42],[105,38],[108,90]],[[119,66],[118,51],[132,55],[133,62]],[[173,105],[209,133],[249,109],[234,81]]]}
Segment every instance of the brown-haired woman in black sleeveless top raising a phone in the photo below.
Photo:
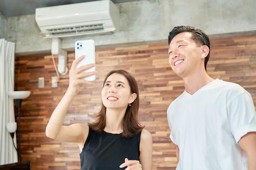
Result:
{"label": "brown-haired woman in black sleeveless top raising a phone", "polygon": [[94,64],[76,69],[83,57],[72,63],[69,87],[52,113],[46,136],[77,143],[81,170],[151,170],[152,137],[137,120],[139,91],[130,73],[124,70],[108,73],[101,92],[101,110],[93,123],[62,125],[81,84],[94,84],[83,79],[96,73],[83,72]]}

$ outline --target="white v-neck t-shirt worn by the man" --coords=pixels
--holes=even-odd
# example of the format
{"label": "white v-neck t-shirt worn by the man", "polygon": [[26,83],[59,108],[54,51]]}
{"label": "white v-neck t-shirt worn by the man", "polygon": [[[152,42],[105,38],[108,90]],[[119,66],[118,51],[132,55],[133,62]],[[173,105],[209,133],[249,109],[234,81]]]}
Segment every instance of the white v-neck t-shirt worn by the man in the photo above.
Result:
{"label": "white v-neck t-shirt worn by the man", "polygon": [[247,170],[238,141],[256,132],[251,95],[219,79],[193,95],[186,91],[167,110],[170,138],[180,149],[176,170]]}

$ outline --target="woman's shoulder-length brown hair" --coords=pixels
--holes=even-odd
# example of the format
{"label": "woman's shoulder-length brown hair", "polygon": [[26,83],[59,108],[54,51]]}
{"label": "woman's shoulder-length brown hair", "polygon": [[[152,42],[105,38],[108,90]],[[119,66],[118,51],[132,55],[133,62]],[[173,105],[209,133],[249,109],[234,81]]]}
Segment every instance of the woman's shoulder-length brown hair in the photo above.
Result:
{"label": "woman's shoulder-length brown hair", "polygon": [[[132,102],[131,106],[127,105],[126,113],[124,115],[124,119],[122,122],[122,125],[123,125],[122,135],[124,138],[128,139],[130,137],[137,135],[144,128],[144,126],[141,126],[139,124],[139,121],[137,119],[138,112],[139,112],[139,88],[135,78],[130,73],[124,70],[110,71],[105,77],[103,86],[107,78],[113,73],[124,75],[124,77],[126,77],[126,79],[129,82],[130,93],[137,94],[137,98],[134,100],[134,102]],[[95,117],[95,121],[92,123],[89,123],[88,125],[92,128],[92,130],[98,133],[101,133],[104,130],[106,126],[106,107],[103,105],[103,103],[101,103],[101,110]]]}

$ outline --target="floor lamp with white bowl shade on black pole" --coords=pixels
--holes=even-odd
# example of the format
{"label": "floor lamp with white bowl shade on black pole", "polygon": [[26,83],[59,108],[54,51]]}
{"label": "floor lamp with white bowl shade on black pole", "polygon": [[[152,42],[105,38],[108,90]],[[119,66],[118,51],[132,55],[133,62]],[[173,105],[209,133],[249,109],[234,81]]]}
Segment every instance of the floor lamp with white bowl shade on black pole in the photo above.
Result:
{"label": "floor lamp with white bowl shade on black pole", "polygon": [[[21,150],[20,150],[20,106],[21,106],[22,99],[25,99],[25,98],[29,97],[30,91],[9,91],[8,95],[9,95],[9,97],[15,99],[16,106],[18,108],[18,146],[19,146],[18,149],[19,150],[17,150],[17,149],[16,150],[17,150],[18,155],[19,155],[19,161],[21,161],[21,154],[20,154],[21,153]],[[13,136],[14,136],[14,133],[13,133]]]}

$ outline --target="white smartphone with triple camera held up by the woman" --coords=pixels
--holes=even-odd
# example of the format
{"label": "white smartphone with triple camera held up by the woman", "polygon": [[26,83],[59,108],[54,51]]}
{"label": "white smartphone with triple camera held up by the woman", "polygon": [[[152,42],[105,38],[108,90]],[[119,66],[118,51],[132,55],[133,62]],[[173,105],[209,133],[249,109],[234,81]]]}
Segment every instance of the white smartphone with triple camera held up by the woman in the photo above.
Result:
{"label": "white smartphone with triple camera held up by the woman", "polygon": [[[79,58],[82,55],[85,57],[83,60],[81,60],[76,68],[79,68],[81,66],[95,63],[95,42],[94,40],[81,40],[75,42],[75,58]],[[92,68],[89,68],[88,70],[85,70],[84,72],[91,72],[95,71],[95,66]],[[94,81],[96,79],[96,75],[91,75],[84,78],[87,81]]]}

